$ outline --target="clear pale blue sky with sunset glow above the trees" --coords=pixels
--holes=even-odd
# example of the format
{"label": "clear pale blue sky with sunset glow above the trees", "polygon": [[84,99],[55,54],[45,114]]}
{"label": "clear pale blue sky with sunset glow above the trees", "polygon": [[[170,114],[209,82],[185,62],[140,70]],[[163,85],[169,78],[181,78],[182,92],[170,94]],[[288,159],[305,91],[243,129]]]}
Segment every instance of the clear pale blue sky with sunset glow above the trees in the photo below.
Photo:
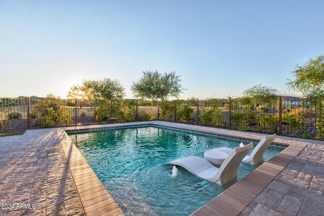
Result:
{"label": "clear pale blue sky with sunset glow above the trees", "polygon": [[[0,97],[66,98],[84,79],[130,87],[176,71],[181,98],[290,94],[295,66],[324,52],[324,1],[0,0]],[[294,93],[296,94],[296,93]]]}

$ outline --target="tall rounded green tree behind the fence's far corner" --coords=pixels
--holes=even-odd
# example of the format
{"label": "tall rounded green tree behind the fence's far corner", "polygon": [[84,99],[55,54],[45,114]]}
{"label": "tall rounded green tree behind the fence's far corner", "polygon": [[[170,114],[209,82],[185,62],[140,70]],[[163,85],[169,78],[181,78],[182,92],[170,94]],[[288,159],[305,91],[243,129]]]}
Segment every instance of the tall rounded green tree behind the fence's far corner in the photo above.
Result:
{"label": "tall rounded green tree behind the fence's far corner", "polygon": [[178,98],[183,93],[185,89],[181,87],[180,82],[180,76],[177,76],[175,72],[162,74],[157,70],[143,71],[143,76],[133,82],[131,91],[135,97],[163,102],[168,97]]}

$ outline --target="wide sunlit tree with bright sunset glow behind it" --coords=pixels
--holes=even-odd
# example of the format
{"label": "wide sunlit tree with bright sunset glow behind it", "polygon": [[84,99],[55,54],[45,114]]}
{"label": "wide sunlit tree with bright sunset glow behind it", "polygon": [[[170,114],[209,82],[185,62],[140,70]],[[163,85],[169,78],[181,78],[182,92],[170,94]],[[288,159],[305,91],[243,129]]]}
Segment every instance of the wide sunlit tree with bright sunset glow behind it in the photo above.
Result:
{"label": "wide sunlit tree with bright sunset glow behind it", "polygon": [[123,85],[109,78],[84,80],[82,85],[73,85],[67,95],[68,98],[82,98],[91,109],[98,106],[99,100],[113,100],[124,96]]}

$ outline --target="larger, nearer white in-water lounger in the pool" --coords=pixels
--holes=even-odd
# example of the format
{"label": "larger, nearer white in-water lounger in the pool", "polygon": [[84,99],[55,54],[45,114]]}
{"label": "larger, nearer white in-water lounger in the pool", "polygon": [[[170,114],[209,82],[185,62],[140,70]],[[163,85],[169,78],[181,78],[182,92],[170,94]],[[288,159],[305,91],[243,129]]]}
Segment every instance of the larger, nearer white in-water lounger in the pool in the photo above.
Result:
{"label": "larger, nearer white in-water lounger in the pool", "polygon": [[174,165],[179,165],[190,171],[192,174],[204,178],[210,182],[224,185],[237,177],[237,167],[242,159],[253,148],[253,143],[244,147],[234,148],[217,168],[207,160],[197,156],[189,156],[179,160],[171,161]]}

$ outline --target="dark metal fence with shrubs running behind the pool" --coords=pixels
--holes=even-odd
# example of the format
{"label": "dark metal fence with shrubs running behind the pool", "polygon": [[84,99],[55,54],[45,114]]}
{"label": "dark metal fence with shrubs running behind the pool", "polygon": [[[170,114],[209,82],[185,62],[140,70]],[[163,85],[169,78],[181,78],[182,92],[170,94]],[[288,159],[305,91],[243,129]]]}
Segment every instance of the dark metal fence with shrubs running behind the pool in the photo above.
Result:
{"label": "dark metal fence with shrubs running behind the pool", "polygon": [[0,98],[0,105],[0,131],[158,119],[324,139],[323,97],[188,99],[160,103],[143,100],[86,103],[80,99],[19,97]]}

